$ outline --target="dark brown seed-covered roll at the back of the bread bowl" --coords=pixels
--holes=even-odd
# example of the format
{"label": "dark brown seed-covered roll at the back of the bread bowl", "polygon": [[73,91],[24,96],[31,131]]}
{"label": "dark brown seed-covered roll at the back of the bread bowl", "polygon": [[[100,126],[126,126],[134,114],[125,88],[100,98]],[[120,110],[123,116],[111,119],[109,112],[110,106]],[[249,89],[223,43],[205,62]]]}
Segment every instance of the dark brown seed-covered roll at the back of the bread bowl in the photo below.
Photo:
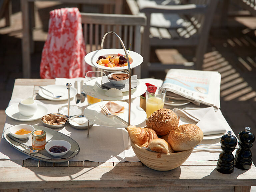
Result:
{"label": "dark brown seed-covered roll at the back of the bread bowl", "polygon": [[170,109],[159,109],[152,113],[147,119],[146,125],[155,130],[157,135],[169,134],[171,130],[177,129],[180,117]]}

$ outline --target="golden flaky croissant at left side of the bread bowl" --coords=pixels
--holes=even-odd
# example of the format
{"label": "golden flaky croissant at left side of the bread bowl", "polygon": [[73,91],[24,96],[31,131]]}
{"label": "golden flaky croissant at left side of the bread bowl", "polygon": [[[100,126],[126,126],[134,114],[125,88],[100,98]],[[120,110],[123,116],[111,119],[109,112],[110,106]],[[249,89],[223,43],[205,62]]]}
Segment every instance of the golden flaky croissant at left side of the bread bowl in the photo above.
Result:
{"label": "golden flaky croissant at left side of the bread bowl", "polygon": [[147,147],[153,139],[158,138],[156,132],[149,127],[128,126],[127,131],[132,142],[140,147]]}

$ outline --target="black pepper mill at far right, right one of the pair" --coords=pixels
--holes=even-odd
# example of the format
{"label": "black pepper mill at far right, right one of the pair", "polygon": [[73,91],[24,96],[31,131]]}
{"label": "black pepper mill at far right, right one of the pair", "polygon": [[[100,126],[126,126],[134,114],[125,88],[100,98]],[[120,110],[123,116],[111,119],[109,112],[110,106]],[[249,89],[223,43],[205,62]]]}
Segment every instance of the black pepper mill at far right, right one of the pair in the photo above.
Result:
{"label": "black pepper mill at far right, right one of the pair", "polygon": [[235,167],[238,169],[248,170],[252,166],[252,143],[255,141],[255,136],[250,132],[250,127],[245,127],[244,131],[238,134],[239,148],[235,154]]}

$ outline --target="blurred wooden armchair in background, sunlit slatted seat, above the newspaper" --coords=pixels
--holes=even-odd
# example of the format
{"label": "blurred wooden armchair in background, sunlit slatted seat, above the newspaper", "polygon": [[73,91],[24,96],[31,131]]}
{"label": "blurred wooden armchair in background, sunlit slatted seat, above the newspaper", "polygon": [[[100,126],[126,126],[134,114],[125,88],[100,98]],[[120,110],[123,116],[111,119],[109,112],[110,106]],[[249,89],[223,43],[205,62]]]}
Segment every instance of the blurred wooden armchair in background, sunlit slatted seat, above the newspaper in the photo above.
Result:
{"label": "blurred wooden armchair in background, sunlit slatted seat, above the newspaper", "polygon": [[[144,57],[142,67],[145,69],[143,77],[147,77],[149,71],[180,67],[179,65],[150,63],[150,47],[152,46],[196,46],[194,68],[201,69],[217,0],[126,1],[133,10],[133,14],[145,13],[147,17],[142,48]],[[134,8],[136,5],[137,9]]]}

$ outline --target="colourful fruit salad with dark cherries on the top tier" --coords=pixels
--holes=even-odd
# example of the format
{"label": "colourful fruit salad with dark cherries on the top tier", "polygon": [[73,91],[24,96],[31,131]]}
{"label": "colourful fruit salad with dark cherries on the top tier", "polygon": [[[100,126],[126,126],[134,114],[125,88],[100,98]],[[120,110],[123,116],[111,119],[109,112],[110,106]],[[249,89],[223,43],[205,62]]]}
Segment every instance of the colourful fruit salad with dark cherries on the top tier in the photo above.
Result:
{"label": "colourful fruit salad with dark cherries on the top tier", "polygon": [[[130,64],[132,63],[130,55],[128,55]],[[117,56],[99,56],[96,63],[105,67],[124,67],[127,66],[127,58],[124,55],[118,54]]]}

